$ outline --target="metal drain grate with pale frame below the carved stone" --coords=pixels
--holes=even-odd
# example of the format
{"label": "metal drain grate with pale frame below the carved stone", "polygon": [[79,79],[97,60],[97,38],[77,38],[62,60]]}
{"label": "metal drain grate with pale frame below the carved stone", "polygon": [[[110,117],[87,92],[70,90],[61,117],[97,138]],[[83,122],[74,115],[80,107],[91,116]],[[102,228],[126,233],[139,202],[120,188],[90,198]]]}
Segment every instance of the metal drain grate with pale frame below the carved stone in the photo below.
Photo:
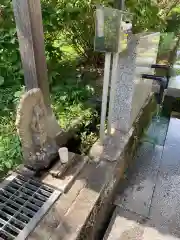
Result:
{"label": "metal drain grate with pale frame below the carved stone", "polygon": [[0,186],[0,240],[23,240],[61,192],[35,179],[10,176]]}

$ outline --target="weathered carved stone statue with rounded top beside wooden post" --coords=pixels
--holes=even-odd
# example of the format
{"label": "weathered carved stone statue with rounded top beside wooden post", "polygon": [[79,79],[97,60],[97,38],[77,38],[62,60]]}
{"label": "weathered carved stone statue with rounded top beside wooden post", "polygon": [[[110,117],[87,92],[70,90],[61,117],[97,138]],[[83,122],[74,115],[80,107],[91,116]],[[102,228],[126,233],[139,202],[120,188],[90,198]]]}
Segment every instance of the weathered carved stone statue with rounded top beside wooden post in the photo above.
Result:
{"label": "weathered carved stone statue with rounded top beside wooden post", "polygon": [[17,110],[16,127],[24,165],[34,171],[47,168],[58,156],[58,146],[50,134],[47,109],[39,88],[31,89],[22,96]]}

